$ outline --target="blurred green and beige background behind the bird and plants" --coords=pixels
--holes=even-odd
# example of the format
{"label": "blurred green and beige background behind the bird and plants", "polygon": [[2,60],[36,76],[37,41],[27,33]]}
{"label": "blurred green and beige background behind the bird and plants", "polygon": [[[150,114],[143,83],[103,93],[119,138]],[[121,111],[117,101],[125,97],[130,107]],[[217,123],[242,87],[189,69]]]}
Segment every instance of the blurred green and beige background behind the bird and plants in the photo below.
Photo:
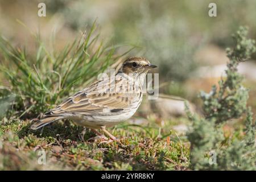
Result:
{"label": "blurred green and beige background behind the bird and plants", "polygon": [[[38,16],[40,2],[46,3],[46,17]],[[217,5],[217,17],[208,15],[210,2]],[[225,76],[225,48],[233,45],[231,34],[239,26],[247,26],[250,38],[256,39],[255,7],[253,0],[1,0],[0,34],[15,46],[26,47],[28,52],[35,51],[32,34],[40,34],[43,42],[61,50],[97,20],[104,41],[121,46],[121,50],[135,47],[127,56],[144,56],[159,65],[156,72],[161,94],[182,97],[197,106],[199,91],[210,90],[212,84]],[[255,59],[253,55],[251,61],[240,67],[254,111]],[[141,113],[157,109],[156,113],[166,117],[184,114],[182,102],[170,102],[170,98],[157,102],[161,103],[160,109],[158,103],[150,108],[144,104]]]}

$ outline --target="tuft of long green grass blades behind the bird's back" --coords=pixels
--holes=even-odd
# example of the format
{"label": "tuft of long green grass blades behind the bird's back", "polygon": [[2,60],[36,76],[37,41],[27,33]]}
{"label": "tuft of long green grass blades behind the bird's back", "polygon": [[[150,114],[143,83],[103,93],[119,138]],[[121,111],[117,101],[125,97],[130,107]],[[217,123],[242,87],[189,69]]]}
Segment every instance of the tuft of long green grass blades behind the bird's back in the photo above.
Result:
{"label": "tuft of long green grass blades behind the bird's back", "polygon": [[[115,56],[115,47],[101,42],[95,30],[94,22],[81,39],[58,52],[48,50],[36,37],[38,47],[35,55],[28,54],[25,48],[13,47],[1,36],[0,55],[6,63],[0,65],[0,70],[5,75],[3,80],[9,82],[9,88],[0,89],[0,105],[6,104],[4,101],[7,100],[14,103],[13,114],[35,117],[57,104],[61,98],[81,89],[127,53]],[[10,94],[15,94],[13,102],[10,101]],[[4,113],[6,107],[2,110],[1,113]]]}

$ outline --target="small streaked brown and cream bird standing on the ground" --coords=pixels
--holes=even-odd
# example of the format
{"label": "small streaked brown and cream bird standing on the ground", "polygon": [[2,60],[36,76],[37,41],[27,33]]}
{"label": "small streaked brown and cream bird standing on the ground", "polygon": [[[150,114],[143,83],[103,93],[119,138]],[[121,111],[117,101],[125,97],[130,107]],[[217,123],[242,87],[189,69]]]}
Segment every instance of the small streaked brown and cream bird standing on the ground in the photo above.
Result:
{"label": "small streaked brown and cream bird standing on the ground", "polygon": [[[72,120],[89,128],[98,137],[116,140],[106,127],[113,127],[134,115],[143,97],[147,72],[156,68],[144,57],[129,57],[115,73],[114,78],[100,78],[85,89],[68,97],[32,124],[37,130],[60,119]],[[103,134],[97,130],[103,131]],[[105,134],[105,135],[104,135]]]}

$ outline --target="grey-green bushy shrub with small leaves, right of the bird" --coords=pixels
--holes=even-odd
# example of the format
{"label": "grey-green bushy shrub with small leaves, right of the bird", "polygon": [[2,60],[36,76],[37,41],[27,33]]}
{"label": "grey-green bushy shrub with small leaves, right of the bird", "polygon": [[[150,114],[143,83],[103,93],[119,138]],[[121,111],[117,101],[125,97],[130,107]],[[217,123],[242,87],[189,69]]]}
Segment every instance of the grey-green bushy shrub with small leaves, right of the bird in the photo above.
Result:
{"label": "grey-green bushy shrub with small leaves, right of the bird", "polygon": [[[248,90],[242,86],[242,76],[237,72],[238,64],[250,59],[255,52],[255,41],[247,39],[246,35],[245,27],[240,27],[233,35],[236,46],[226,51],[230,60],[225,71],[226,78],[221,78],[218,88],[214,85],[209,93],[200,93],[204,117],[188,112],[192,121],[187,135],[191,142],[193,169],[256,169],[253,113],[247,107]],[[245,114],[245,134],[242,139],[233,137],[227,141],[223,126]],[[215,157],[215,164],[209,162]]]}

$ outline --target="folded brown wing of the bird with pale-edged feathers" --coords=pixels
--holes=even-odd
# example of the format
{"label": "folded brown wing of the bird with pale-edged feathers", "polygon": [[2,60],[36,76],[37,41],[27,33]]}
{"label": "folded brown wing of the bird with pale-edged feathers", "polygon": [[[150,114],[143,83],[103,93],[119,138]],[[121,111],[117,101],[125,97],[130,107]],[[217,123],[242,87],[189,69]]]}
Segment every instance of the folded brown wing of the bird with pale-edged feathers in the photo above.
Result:
{"label": "folded brown wing of the bird with pale-edged feathers", "polygon": [[122,110],[131,104],[131,97],[134,97],[134,94],[116,91],[117,88],[123,87],[125,84],[122,84],[122,81],[115,82],[115,85],[110,81],[96,81],[89,88],[67,98],[50,113],[53,115],[64,113],[90,115],[101,113],[105,108],[113,111]]}

